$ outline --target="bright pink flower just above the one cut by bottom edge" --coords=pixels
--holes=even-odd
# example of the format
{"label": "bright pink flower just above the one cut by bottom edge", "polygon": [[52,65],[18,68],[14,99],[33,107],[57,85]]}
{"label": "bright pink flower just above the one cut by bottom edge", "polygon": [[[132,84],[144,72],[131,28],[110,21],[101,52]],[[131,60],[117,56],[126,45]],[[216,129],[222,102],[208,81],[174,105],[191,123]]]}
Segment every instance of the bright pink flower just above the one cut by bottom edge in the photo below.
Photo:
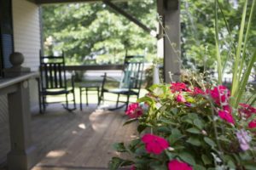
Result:
{"label": "bright pink flower just above the one cut by bottom edge", "polygon": [[142,140],[146,145],[148,153],[154,153],[155,155],[160,155],[163,150],[169,147],[166,139],[155,136],[154,134],[145,134]]}

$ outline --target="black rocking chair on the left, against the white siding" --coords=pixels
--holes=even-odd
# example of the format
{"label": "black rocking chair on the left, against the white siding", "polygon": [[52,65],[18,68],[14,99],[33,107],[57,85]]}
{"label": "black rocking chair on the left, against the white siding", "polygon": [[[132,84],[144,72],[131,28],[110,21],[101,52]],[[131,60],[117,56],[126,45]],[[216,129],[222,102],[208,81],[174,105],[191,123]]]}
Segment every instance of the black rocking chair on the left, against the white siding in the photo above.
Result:
{"label": "black rocking chair on the left, against the white siding", "polygon": [[[41,113],[44,113],[46,106],[49,104],[46,100],[49,95],[65,94],[66,104],[63,104],[64,108],[67,111],[76,110],[73,76],[71,78],[71,88],[68,88],[64,54],[61,56],[42,56],[40,53],[40,76],[39,103]],[[72,99],[68,99],[69,94],[72,94]],[[69,101],[73,103],[73,108],[69,107]]]}

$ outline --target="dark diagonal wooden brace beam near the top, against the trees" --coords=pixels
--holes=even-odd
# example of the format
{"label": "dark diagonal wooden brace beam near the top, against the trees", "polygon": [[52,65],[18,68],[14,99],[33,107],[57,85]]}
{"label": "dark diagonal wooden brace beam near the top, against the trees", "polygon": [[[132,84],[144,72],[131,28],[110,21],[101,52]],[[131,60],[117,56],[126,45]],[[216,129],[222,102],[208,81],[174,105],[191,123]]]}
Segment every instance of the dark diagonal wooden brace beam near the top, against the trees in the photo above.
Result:
{"label": "dark diagonal wooden brace beam near the top, against the trees", "polygon": [[103,3],[108,5],[110,8],[113,8],[113,10],[115,10],[119,14],[125,16],[125,18],[127,18],[128,20],[131,20],[131,22],[135,23],[137,26],[143,28],[144,31],[148,31],[149,33],[152,31],[150,28],[148,28],[148,26],[143,25],[142,22],[134,18],[131,14],[126,13],[125,10],[119,8],[115,4],[111,3],[109,0],[103,0]]}

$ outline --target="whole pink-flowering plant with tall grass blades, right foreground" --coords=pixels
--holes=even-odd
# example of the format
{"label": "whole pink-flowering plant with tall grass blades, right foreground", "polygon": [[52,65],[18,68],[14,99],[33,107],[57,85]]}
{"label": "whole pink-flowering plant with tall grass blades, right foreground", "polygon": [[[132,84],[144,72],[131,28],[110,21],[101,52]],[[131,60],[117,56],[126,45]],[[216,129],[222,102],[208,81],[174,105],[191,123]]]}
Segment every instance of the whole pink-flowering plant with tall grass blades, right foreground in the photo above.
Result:
{"label": "whole pink-flowering plant with tall grass blades, right foreground", "polygon": [[131,118],[126,123],[137,122],[139,137],[130,144],[114,144],[116,150],[128,153],[130,159],[113,157],[109,161],[110,169],[126,166],[139,170],[256,168],[255,99],[251,103],[242,99],[256,60],[256,51],[251,56],[245,53],[255,0],[245,24],[247,4],[245,0],[236,47],[230,46],[230,54],[235,56],[230,89],[222,85],[224,62],[219,48],[217,14],[220,6],[215,0],[218,83],[188,71],[182,82],[154,84],[146,96],[125,112]]}

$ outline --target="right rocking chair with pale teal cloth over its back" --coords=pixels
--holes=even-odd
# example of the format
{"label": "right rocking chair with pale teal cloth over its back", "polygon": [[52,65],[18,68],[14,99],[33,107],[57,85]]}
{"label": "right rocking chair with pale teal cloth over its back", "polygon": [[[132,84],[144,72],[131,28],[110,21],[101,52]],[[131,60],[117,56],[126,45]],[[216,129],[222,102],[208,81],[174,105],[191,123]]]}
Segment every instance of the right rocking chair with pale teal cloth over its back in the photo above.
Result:
{"label": "right rocking chair with pale teal cloth over its back", "polygon": [[[125,111],[129,105],[129,100],[131,96],[136,96],[137,99],[140,94],[140,89],[142,86],[142,79],[143,79],[143,67],[144,67],[144,56],[143,55],[132,55],[125,57],[124,63],[124,71],[123,77],[121,82],[119,82],[119,88],[108,89],[105,87],[106,82],[111,77],[107,76],[107,73],[103,76],[102,81],[102,93],[100,97],[101,101],[104,101],[104,94],[117,94],[116,105],[114,108],[109,110],[116,110],[120,109],[125,106]],[[119,100],[120,95],[125,95],[126,100],[121,101]],[[123,103],[123,105],[119,105],[119,103]]]}

